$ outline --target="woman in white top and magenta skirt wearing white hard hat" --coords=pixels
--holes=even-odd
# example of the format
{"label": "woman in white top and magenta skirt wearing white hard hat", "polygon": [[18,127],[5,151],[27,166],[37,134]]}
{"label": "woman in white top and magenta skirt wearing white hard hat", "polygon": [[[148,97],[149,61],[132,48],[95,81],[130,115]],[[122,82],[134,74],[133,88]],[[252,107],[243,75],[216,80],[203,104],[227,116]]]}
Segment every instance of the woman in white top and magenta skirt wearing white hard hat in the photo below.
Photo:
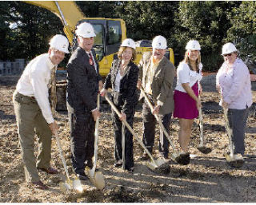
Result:
{"label": "woman in white top and magenta skirt wearing white hard hat", "polygon": [[178,141],[182,152],[176,161],[183,160],[184,164],[190,163],[188,145],[194,118],[198,117],[198,108],[201,101],[198,90],[202,91],[199,81],[202,79],[202,63],[198,41],[191,40],[186,44],[186,53],[177,69],[177,85],[174,91],[174,117],[178,117],[180,130]]}

